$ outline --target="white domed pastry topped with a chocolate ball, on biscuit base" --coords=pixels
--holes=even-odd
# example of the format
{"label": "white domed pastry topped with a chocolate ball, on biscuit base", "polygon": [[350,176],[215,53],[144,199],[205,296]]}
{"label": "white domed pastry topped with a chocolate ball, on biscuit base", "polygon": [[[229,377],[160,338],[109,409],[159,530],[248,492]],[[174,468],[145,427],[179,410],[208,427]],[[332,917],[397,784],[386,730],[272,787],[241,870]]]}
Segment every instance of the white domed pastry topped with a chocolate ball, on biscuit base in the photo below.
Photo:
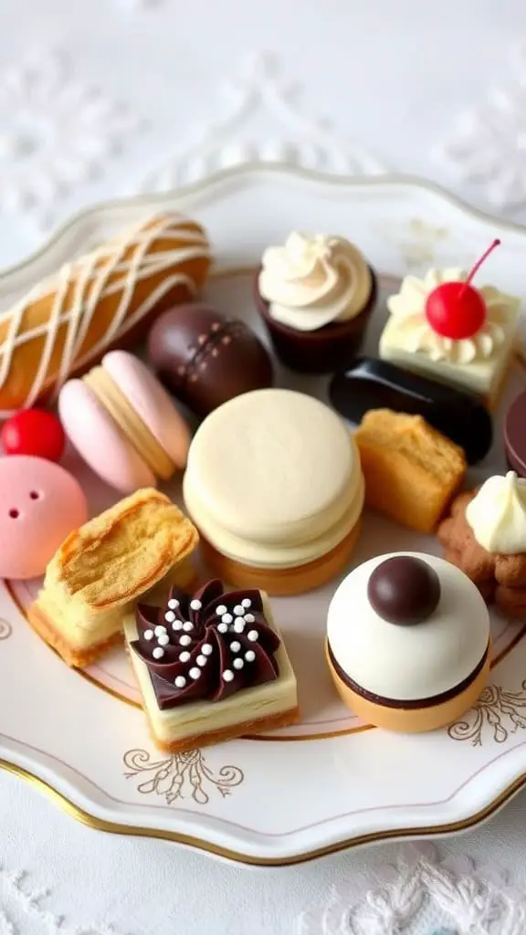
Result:
{"label": "white domed pastry topped with a chocolate ball, on biscuit base", "polygon": [[456,721],[489,673],[489,613],[475,584],[434,555],[380,555],[329,606],[327,658],[344,703],[402,733]]}

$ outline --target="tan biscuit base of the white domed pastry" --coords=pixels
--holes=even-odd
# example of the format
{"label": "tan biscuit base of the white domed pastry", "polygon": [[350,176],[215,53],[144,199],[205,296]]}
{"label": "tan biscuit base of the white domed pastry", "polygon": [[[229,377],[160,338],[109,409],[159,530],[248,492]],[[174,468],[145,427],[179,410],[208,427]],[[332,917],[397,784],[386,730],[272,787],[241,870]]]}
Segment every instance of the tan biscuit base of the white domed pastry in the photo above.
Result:
{"label": "tan biscuit base of the white domed pastry", "polygon": [[374,727],[383,727],[384,730],[394,731],[400,734],[418,734],[428,730],[437,730],[439,727],[446,727],[457,721],[463,714],[473,708],[476,701],[483,692],[488,682],[491,644],[486,663],[475,677],[472,683],[465,688],[459,695],[449,698],[442,704],[432,705],[426,708],[390,708],[387,705],[376,704],[368,698],[358,695],[348,685],[346,685],[329,659],[327,640],[325,644],[325,655],[332,681],[336,687],[340,698],[343,700],[352,712],[358,714],[366,724]]}

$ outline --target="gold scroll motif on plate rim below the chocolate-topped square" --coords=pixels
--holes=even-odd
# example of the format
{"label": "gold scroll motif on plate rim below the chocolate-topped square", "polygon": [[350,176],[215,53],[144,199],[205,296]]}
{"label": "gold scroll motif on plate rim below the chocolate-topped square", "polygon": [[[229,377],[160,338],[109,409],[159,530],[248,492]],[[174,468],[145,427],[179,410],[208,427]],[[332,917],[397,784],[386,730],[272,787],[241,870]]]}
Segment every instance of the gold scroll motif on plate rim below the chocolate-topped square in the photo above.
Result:
{"label": "gold scroll motif on plate rim below the chocolate-topped square", "polygon": [[244,780],[243,771],[237,766],[212,770],[200,750],[171,754],[161,760],[153,760],[146,750],[127,750],[123,759],[127,767],[124,772],[126,779],[141,773],[150,776],[138,785],[138,792],[143,796],[162,796],[168,805],[184,798],[193,798],[198,805],[207,805],[212,788],[226,798]]}

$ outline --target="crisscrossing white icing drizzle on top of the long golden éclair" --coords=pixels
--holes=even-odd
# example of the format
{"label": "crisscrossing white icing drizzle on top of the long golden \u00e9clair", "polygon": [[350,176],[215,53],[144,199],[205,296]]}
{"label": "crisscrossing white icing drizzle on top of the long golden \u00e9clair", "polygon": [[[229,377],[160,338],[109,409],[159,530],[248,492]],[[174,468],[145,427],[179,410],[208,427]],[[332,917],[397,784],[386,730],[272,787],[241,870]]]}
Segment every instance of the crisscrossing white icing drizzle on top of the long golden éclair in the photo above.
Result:
{"label": "crisscrossing white icing drizzle on top of the long golden \u00e9clair", "polygon": [[[33,406],[50,381],[51,355],[61,325],[66,324],[66,339],[60,367],[52,381],[55,395],[73,369],[95,359],[116,339],[122,338],[175,286],[185,285],[193,295],[197,283],[178,267],[198,258],[210,258],[211,253],[205,233],[188,227],[188,223],[188,219],[176,213],[161,214],[138,223],[93,252],[66,263],[56,275],[38,283],[14,307],[0,313],[0,321],[7,319],[9,322],[7,337],[0,344],[0,391],[7,382],[15,352],[28,341],[44,338],[44,348],[31,387],[22,401],[23,408]],[[174,240],[180,244],[183,241],[184,245],[153,252],[156,240]],[[137,283],[163,272],[166,276],[159,285],[138,309],[127,315]],[[117,309],[103,337],[80,357],[80,348],[97,306],[102,299],[118,294]],[[52,296],[48,321],[24,329],[22,324],[27,311],[46,296]]]}

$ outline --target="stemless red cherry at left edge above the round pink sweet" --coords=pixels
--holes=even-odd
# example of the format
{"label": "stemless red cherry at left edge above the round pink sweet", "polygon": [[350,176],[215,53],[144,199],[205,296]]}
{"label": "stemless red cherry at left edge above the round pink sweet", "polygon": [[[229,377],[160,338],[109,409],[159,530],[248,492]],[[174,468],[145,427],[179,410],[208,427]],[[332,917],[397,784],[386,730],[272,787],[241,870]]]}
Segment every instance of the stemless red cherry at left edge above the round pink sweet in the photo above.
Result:
{"label": "stemless red cherry at left edge above the round pink sweet", "polygon": [[60,461],[66,436],[59,419],[44,410],[20,410],[2,427],[0,440],[6,454],[31,454]]}

